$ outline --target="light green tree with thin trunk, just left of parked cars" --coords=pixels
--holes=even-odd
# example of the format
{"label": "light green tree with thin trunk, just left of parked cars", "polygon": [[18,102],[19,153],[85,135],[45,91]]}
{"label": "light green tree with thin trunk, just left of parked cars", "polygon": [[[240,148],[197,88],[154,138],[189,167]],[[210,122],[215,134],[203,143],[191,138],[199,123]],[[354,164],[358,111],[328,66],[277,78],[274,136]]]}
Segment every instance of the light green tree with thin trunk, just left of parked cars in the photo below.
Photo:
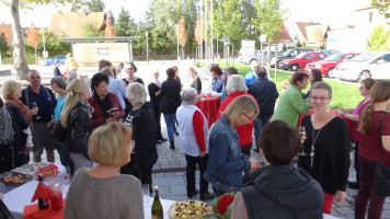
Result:
{"label": "light green tree with thin trunk, just left of parked cars", "polygon": [[283,20],[288,10],[282,9],[282,0],[255,0],[254,8],[257,11],[257,16],[252,19],[253,23],[259,32],[261,28],[263,30],[262,32],[268,41],[267,73],[269,78],[271,43],[280,42]]}

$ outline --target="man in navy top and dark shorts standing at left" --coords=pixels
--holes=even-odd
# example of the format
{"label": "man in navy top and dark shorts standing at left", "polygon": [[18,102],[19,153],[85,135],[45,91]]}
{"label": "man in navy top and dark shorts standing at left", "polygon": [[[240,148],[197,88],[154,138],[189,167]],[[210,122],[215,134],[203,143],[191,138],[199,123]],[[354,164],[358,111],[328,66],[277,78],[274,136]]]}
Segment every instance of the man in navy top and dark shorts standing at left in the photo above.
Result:
{"label": "man in navy top and dark shorts standing at left", "polygon": [[42,153],[46,150],[48,162],[55,162],[54,149],[56,145],[50,138],[47,124],[53,119],[57,100],[53,91],[41,84],[41,74],[37,70],[31,70],[27,74],[30,85],[22,91],[20,100],[30,108],[38,108],[38,113],[32,117],[33,128],[33,161],[42,162]]}

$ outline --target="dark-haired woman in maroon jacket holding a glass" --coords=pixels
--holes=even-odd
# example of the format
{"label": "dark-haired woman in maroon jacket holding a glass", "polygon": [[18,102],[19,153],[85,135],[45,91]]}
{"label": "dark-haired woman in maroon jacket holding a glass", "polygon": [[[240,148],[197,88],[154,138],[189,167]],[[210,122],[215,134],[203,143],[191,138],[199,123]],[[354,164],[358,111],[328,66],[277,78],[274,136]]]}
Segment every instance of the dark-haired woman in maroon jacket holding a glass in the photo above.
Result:
{"label": "dark-haired woman in maroon jacket holding a glass", "polygon": [[91,89],[93,94],[88,99],[88,103],[94,108],[91,118],[93,128],[117,122],[125,116],[118,97],[108,92],[106,74],[95,73],[91,79]]}

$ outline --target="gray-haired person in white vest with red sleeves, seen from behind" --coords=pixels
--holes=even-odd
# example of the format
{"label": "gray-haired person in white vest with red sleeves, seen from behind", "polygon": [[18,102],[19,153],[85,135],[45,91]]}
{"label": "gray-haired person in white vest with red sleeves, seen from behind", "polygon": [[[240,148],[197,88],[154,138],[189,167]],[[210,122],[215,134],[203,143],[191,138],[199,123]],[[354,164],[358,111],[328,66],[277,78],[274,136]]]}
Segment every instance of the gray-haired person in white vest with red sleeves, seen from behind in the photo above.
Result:
{"label": "gray-haired person in white vest with red sleeves, seen from behind", "polygon": [[187,162],[186,181],[187,197],[192,198],[198,194],[195,189],[196,164],[200,171],[200,200],[209,200],[215,197],[208,192],[208,182],[204,174],[208,163],[208,123],[205,115],[194,104],[197,102],[197,91],[194,88],[182,92],[182,105],[177,108],[176,118],[179,123],[179,139],[182,152]]}

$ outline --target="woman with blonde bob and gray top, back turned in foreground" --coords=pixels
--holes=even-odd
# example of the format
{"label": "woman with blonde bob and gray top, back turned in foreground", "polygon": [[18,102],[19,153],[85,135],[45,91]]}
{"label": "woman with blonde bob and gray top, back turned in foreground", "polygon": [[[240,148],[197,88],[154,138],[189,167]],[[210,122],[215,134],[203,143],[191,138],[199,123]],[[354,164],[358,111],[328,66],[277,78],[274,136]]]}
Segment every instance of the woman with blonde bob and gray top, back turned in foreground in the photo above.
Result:
{"label": "woman with blonde bob and gray top, back turned in foreground", "polygon": [[130,161],[131,128],[113,122],[91,135],[88,153],[96,168],[81,168],[69,187],[64,218],[144,218],[141,183],[119,169]]}

